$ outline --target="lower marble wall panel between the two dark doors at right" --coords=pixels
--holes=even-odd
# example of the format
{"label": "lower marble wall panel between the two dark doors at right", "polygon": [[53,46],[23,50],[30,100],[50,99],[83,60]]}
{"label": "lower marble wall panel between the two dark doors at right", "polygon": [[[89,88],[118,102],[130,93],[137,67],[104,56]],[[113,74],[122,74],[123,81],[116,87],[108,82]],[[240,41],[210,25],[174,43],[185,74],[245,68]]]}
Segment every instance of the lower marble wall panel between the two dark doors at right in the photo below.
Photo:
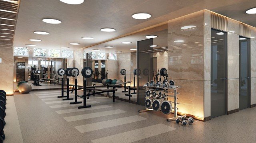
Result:
{"label": "lower marble wall panel between the two dark doors at right", "polygon": [[228,111],[239,108],[239,79],[228,80]]}

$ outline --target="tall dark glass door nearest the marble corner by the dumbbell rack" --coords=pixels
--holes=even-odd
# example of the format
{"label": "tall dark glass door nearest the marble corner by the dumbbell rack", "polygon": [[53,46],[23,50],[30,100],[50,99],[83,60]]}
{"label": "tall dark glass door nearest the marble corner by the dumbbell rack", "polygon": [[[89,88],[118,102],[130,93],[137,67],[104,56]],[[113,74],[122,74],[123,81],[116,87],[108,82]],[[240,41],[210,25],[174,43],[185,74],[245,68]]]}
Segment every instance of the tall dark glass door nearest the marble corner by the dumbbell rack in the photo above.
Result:
{"label": "tall dark glass door nearest the marble corner by the dumbbell rack", "polygon": [[226,33],[211,30],[211,118],[226,114]]}

